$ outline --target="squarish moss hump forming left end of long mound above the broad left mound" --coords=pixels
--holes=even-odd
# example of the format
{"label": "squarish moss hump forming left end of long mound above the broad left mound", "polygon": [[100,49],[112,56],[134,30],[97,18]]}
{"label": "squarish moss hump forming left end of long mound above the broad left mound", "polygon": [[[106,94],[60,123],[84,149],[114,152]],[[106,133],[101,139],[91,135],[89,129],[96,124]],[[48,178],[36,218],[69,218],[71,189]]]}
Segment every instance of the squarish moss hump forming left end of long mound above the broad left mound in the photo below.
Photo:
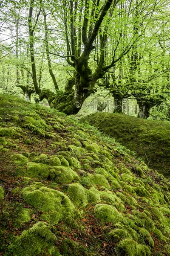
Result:
{"label": "squarish moss hump forming left end of long mound above the broad left mound", "polygon": [[31,177],[48,177],[48,165],[43,163],[27,163],[26,173]]}

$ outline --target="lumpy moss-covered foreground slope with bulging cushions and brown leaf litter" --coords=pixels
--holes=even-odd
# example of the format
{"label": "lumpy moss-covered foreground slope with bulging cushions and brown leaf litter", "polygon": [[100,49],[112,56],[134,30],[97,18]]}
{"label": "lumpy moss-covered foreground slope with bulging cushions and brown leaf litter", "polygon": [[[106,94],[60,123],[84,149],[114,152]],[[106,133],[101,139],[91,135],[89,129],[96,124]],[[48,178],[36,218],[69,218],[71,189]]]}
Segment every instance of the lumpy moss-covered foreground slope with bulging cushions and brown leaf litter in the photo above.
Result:
{"label": "lumpy moss-covered foreground slope with bulging cushions and brown leaf litter", "polygon": [[0,136],[5,255],[170,254],[170,180],[87,123],[16,97],[0,104],[0,127],[15,131]]}

